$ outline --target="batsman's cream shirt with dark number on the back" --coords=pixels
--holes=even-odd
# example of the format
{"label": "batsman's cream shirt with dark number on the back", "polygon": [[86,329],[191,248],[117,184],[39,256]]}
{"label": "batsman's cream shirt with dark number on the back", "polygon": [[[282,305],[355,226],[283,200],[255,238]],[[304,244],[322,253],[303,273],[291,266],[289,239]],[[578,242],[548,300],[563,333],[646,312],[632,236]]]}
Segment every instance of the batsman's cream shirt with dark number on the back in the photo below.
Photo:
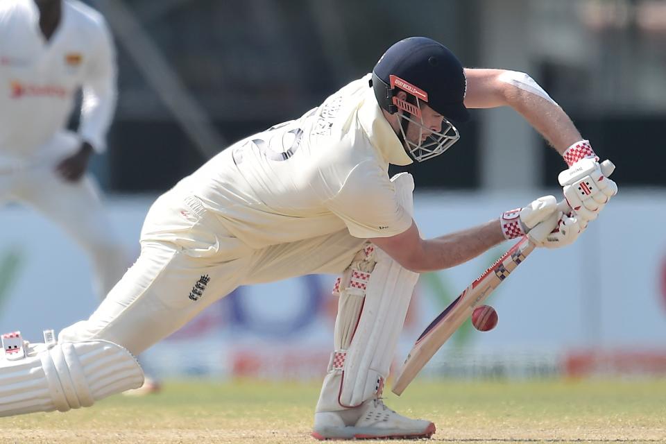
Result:
{"label": "batsman's cream shirt with dark number on the back", "polygon": [[233,144],[176,185],[253,248],[348,228],[390,237],[411,225],[388,164],[411,158],[377,105],[370,74],[300,119]]}

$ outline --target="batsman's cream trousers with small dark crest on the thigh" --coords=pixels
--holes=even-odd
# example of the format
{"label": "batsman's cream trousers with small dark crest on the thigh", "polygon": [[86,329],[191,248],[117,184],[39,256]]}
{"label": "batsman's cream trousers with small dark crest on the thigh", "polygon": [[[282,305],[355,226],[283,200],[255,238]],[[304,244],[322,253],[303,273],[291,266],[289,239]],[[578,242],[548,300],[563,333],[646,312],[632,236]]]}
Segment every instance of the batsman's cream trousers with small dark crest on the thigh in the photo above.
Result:
{"label": "batsman's cream trousers with small dark crest on the thigh", "polygon": [[58,339],[104,339],[138,355],[240,285],[341,273],[364,241],[341,230],[255,250],[197,198],[172,190],[148,211],[137,262],[87,321]]}

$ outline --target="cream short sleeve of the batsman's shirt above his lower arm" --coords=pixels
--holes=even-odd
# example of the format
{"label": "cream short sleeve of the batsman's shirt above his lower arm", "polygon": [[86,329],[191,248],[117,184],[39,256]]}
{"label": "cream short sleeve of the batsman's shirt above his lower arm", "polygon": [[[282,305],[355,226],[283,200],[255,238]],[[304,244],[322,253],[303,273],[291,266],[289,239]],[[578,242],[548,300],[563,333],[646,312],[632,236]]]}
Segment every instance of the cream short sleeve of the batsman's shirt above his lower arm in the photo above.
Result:
{"label": "cream short sleeve of the batsman's shirt above his lower arm", "polygon": [[372,164],[361,162],[351,171],[327,207],[347,225],[353,237],[391,237],[406,231],[411,216],[398,203],[388,175]]}

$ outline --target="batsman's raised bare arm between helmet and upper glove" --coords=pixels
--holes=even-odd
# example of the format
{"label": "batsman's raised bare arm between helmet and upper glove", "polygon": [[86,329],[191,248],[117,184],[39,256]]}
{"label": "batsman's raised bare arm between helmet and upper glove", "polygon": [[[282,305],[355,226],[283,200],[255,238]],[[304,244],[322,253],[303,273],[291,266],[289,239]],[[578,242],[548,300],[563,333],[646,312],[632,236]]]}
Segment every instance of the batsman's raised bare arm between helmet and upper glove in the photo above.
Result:
{"label": "batsman's raised bare arm between helmet and upper glove", "polygon": [[563,154],[583,139],[564,110],[527,74],[504,69],[465,69],[467,108],[510,106]]}

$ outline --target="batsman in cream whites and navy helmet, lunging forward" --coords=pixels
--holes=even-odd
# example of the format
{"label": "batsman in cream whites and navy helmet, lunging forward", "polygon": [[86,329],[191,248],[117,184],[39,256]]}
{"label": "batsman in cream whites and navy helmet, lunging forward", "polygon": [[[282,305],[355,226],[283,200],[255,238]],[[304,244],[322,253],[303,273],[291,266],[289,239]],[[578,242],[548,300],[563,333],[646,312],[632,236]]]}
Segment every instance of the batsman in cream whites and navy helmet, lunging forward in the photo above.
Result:
{"label": "batsman in cream whites and navy helmet, lunging forward", "polygon": [[[459,139],[454,122],[468,119],[467,108],[502,105],[520,112],[570,168],[592,163],[585,194],[564,185],[577,212],[563,214],[545,196],[468,230],[422,239],[412,218],[413,179],[389,178],[388,165],[432,160]],[[58,341],[8,337],[0,379],[13,379],[0,385],[0,414],[67,411],[138,386],[143,375],[133,355],[239,285],[340,273],[334,352],[313,436],[432,436],[432,422],[382,401],[419,273],[462,264],[525,233],[547,248],[575,241],[617,191],[581,139],[527,74],[463,69],[434,40],[402,40],[372,73],[318,108],[233,144],[160,196],[146,216],[139,259],[89,319]],[[33,390],[22,391],[26,384]]]}

